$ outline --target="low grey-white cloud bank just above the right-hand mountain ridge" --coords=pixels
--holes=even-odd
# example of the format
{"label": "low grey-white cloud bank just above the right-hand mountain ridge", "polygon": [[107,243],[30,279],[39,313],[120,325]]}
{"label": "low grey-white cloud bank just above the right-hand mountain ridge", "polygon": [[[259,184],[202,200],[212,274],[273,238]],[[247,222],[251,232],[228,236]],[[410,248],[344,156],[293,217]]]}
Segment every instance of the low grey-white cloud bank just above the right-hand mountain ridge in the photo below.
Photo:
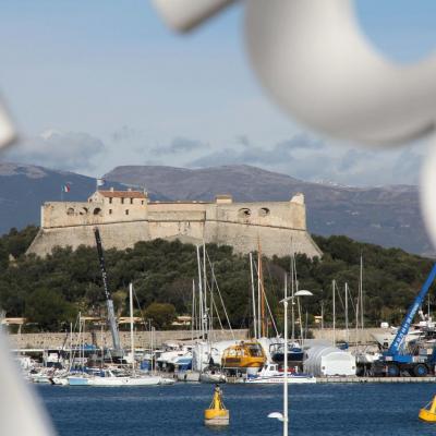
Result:
{"label": "low grey-white cloud bank just above the right-hand mountain ridge", "polygon": [[233,148],[215,149],[187,162],[189,167],[253,165],[310,181],[349,185],[417,184],[425,144],[400,148],[356,148],[326,144],[308,135],[294,135],[269,146],[237,141]]}

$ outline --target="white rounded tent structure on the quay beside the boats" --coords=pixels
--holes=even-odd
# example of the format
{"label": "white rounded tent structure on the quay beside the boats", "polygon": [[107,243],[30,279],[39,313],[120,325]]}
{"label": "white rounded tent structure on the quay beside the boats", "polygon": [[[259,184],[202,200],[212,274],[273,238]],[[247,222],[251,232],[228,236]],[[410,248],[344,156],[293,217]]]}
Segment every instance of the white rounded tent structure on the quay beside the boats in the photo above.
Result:
{"label": "white rounded tent structure on the quay beside the boats", "polygon": [[355,356],[336,347],[312,347],[304,361],[304,372],[319,376],[355,375]]}

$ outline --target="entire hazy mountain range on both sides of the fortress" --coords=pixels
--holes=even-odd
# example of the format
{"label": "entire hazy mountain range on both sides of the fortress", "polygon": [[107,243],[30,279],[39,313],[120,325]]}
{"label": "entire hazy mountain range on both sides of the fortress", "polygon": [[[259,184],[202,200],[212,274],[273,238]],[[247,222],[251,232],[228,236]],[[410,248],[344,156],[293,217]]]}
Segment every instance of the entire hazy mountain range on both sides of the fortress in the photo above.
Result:
{"label": "entire hazy mountain range on both sides of the fortress", "polygon": [[[234,201],[288,201],[305,195],[312,233],[346,234],[411,253],[434,255],[421,218],[417,186],[340,186],[306,182],[250,166],[185,169],[162,166],[122,166],[105,175],[107,186],[145,187],[152,199],[213,201],[231,194]],[[71,191],[61,193],[69,184]],[[0,232],[39,223],[46,201],[85,201],[96,179],[43,167],[0,164]]]}

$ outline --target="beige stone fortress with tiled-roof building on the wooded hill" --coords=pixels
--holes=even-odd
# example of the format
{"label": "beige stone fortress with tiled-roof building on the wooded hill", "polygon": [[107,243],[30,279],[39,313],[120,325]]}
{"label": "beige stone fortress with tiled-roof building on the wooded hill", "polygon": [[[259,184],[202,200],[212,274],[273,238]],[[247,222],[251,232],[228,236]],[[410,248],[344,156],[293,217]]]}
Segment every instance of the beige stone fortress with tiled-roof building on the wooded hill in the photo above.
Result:
{"label": "beige stone fortress with tiled-roof building on the wooded hill", "polygon": [[113,189],[96,191],[87,202],[45,203],[40,230],[27,253],[46,256],[55,246],[93,246],[95,226],[105,249],[161,238],[193,244],[204,240],[249,253],[259,240],[267,256],[291,250],[322,255],[306,230],[303,194],[289,202],[234,203],[229,195],[218,195],[214,203],[149,202],[145,192]]}

